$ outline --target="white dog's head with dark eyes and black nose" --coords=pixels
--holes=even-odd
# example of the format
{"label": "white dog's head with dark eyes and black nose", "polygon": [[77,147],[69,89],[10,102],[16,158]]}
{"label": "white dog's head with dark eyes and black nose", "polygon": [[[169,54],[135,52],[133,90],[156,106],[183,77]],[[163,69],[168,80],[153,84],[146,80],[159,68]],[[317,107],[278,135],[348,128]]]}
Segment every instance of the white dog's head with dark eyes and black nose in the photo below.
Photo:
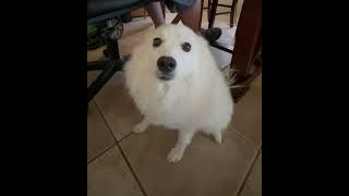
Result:
{"label": "white dog's head with dark eyes and black nose", "polygon": [[145,42],[148,68],[161,82],[185,77],[197,66],[205,50],[205,40],[183,25],[164,25],[155,29]]}

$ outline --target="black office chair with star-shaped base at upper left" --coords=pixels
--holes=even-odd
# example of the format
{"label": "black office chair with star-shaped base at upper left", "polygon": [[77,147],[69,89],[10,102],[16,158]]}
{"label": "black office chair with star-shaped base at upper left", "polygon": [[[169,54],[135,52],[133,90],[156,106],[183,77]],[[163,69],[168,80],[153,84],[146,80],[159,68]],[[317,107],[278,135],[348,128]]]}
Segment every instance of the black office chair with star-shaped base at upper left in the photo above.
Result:
{"label": "black office chair with star-shaped base at upper left", "polygon": [[[130,13],[153,1],[157,0],[87,0],[87,22],[93,24],[106,22],[116,16]],[[120,56],[118,38],[113,37],[112,32],[106,37],[108,60],[87,62],[87,72],[96,70],[103,71],[87,87],[87,108],[88,102],[98,94],[116,72],[122,70],[122,65],[130,58],[130,56]]]}

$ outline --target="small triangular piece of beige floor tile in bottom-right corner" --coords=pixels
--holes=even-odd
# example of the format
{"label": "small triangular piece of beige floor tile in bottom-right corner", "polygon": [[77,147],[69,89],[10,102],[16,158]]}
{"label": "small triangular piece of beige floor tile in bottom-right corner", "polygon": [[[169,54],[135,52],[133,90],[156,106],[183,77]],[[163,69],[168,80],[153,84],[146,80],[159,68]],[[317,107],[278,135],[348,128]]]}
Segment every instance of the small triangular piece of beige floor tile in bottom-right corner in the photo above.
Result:
{"label": "small triangular piece of beige floor tile in bottom-right corner", "polygon": [[254,163],[240,196],[262,196],[262,154]]}

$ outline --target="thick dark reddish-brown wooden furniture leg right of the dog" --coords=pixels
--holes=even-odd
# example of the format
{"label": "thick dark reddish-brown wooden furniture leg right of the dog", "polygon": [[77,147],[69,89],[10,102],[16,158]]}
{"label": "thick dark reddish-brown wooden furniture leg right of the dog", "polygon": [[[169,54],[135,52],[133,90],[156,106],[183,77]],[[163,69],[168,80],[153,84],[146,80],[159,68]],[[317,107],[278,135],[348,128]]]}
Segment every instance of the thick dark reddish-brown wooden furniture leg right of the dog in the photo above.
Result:
{"label": "thick dark reddish-brown wooden furniture leg right of the dog", "polygon": [[244,0],[233,52],[230,66],[238,70],[237,84],[246,86],[231,91],[238,101],[262,73],[262,0]]}

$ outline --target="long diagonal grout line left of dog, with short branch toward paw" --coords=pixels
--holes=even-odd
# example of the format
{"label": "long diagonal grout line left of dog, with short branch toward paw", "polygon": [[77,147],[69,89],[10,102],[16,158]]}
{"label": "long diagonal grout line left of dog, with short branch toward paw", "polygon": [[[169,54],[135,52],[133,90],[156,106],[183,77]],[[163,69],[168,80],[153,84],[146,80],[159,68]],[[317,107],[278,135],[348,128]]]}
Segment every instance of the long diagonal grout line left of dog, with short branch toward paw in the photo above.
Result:
{"label": "long diagonal grout line left of dog, with short branch toward paw", "polygon": [[[95,102],[95,101],[94,101],[94,102]],[[122,148],[121,148],[120,144],[118,143],[117,137],[113,135],[113,133],[112,133],[112,131],[111,131],[110,125],[107,123],[107,120],[106,120],[105,115],[101,113],[100,108],[98,107],[98,105],[97,105],[96,102],[95,102],[95,105],[96,105],[96,108],[97,108],[98,112],[100,113],[100,115],[101,115],[101,118],[103,118],[104,122],[106,123],[106,126],[107,126],[107,128],[109,130],[109,132],[110,132],[110,134],[111,134],[112,138],[115,139],[116,146],[118,146],[118,148],[119,148],[119,150],[120,150],[120,152],[121,152],[121,156],[122,156],[123,160],[127,162],[127,164],[128,164],[128,167],[129,167],[129,169],[130,169],[130,171],[131,171],[131,173],[132,173],[132,175],[133,175],[134,180],[135,180],[135,181],[136,181],[136,183],[139,184],[139,187],[140,187],[140,189],[141,189],[141,192],[143,193],[143,195],[144,195],[144,196],[147,196],[147,194],[146,194],[146,192],[145,192],[145,189],[144,189],[143,185],[141,184],[140,179],[139,179],[139,177],[137,177],[137,175],[135,174],[135,172],[134,172],[133,168],[131,167],[131,163],[130,163],[129,159],[127,158],[127,156],[125,156],[124,151],[122,150]],[[131,133],[131,134],[132,134],[132,133]],[[129,135],[130,135],[130,134],[129,134]],[[128,136],[129,136],[129,135],[128,135]],[[127,137],[128,137],[128,136],[127,136]],[[123,138],[125,138],[125,137],[123,137]],[[123,139],[123,138],[122,138],[122,139]],[[122,140],[122,139],[121,139],[121,140]]]}

